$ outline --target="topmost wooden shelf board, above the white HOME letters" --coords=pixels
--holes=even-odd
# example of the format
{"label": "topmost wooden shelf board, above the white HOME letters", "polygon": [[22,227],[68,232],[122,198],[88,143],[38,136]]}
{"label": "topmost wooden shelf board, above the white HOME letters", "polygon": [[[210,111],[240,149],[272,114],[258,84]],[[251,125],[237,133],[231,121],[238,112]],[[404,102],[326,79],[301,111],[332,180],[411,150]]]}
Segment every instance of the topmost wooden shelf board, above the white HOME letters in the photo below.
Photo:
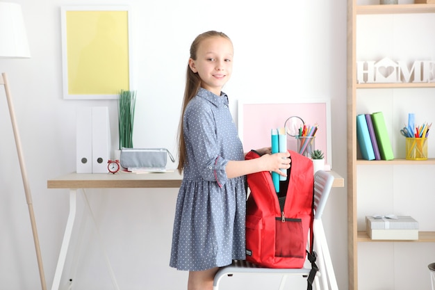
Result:
{"label": "topmost wooden shelf board, above the white HOME letters", "polygon": [[357,15],[435,13],[435,4],[360,5]]}

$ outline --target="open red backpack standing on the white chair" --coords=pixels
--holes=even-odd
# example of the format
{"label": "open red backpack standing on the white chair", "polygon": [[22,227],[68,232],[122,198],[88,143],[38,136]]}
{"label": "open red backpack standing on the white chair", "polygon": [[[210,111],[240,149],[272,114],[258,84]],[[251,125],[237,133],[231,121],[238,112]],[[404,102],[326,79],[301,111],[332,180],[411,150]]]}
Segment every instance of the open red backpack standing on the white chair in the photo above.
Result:
{"label": "open red backpack standing on the white chair", "polygon": [[[302,268],[310,229],[313,254],[313,162],[290,152],[287,180],[275,191],[270,172],[247,175],[246,260],[267,268]],[[258,158],[251,151],[245,159]],[[317,268],[312,261],[313,268]],[[313,273],[315,275],[315,271]],[[311,275],[310,275],[311,276]]]}

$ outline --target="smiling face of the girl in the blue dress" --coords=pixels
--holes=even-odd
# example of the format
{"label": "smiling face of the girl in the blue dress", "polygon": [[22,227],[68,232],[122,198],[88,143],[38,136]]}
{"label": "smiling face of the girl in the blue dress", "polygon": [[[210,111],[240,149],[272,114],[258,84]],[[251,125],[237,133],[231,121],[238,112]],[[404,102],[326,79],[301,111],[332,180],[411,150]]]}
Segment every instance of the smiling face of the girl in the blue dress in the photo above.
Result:
{"label": "smiling face of the girl in the blue dress", "polygon": [[219,96],[233,71],[231,41],[221,36],[202,40],[197,50],[197,59],[190,58],[189,66],[192,72],[199,74],[202,88]]}

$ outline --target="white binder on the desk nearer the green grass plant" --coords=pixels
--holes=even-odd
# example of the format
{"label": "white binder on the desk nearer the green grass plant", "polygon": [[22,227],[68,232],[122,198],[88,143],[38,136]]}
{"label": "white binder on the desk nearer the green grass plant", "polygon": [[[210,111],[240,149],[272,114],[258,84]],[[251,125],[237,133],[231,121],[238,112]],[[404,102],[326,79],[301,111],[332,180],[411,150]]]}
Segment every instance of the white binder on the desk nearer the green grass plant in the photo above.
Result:
{"label": "white binder on the desk nearer the green grass plant", "polygon": [[108,107],[92,107],[92,173],[107,173],[110,156]]}

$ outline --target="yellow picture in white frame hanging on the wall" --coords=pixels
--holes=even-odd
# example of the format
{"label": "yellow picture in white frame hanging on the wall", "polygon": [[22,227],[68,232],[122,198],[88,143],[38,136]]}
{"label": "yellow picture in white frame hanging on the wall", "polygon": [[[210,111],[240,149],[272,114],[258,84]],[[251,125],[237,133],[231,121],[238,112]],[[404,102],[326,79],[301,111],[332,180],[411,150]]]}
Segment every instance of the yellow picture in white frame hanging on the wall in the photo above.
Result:
{"label": "yellow picture in white frame hanging on the wall", "polygon": [[116,99],[131,88],[129,6],[63,6],[64,99]]}

